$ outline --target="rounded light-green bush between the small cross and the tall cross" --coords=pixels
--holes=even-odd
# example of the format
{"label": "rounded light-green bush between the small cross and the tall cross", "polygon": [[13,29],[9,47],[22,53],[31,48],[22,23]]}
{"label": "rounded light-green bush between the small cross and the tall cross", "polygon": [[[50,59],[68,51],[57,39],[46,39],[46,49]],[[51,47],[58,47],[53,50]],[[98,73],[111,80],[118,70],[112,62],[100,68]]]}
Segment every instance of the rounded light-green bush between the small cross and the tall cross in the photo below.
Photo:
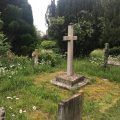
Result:
{"label": "rounded light-green bush between the small cross and the tall cross", "polygon": [[59,53],[57,43],[53,40],[43,40],[39,49],[39,62],[40,64],[48,64],[52,67],[59,65],[62,61],[63,56]]}

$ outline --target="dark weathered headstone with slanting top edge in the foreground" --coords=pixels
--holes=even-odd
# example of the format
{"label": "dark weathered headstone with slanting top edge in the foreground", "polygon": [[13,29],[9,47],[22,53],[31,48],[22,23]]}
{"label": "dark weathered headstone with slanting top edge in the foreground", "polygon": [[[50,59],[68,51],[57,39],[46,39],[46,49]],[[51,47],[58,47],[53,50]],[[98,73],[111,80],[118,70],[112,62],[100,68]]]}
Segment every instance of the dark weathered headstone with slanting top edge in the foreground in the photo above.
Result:
{"label": "dark weathered headstone with slanting top edge in the foreground", "polygon": [[58,105],[57,120],[82,120],[83,93],[62,101]]}

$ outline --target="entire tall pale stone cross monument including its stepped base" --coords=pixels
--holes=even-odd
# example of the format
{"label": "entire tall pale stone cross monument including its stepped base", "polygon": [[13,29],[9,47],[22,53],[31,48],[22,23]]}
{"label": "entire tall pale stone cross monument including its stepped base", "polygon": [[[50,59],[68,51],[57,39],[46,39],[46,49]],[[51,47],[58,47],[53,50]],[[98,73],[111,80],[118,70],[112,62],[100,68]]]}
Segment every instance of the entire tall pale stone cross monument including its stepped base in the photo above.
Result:
{"label": "entire tall pale stone cross monument including its stepped base", "polygon": [[68,52],[67,52],[67,73],[62,73],[56,76],[55,80],[51,83],[66,89],[76,89],[78,87],[86,85],[87,80],[83,75],[75,74],[73,71],[73,41],[77,40],[77,36],[73,35],[73,25],[68,26],[68,36],[64,36],[63,39],[68,40]]}

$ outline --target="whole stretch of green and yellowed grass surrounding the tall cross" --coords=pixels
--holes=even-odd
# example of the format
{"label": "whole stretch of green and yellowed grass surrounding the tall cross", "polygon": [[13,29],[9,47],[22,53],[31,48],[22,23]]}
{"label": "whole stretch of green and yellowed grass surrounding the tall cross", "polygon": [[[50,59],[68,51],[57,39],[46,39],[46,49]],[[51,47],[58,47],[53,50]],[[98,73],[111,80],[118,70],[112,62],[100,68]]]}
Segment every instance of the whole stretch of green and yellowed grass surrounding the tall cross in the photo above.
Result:
{"label": "whole stretch of green and yellowed grass surrounding the tall cross", "polygon": [[58,73],[65,71],[66,62],[60,66],[30,67],[11,78],[1,77],[0,105],[5,107],[7,120],[56,120],[58,103],[81,90],[84,92],[83,120],[120,119],[120,68],[88,58],[76,59],[74,69],[90,78],[86,87],[68,91],[50,84]]}

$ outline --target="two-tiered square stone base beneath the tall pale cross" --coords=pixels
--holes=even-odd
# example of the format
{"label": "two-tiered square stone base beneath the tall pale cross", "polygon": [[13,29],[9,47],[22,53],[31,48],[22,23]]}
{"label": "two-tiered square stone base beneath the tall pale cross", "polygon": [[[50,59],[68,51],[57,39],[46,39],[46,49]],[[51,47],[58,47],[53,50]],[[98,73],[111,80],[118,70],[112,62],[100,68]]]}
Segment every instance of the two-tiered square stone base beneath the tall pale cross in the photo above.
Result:
{"label": "two-tiered square stone base beneath the tall pale cross", "polygon": [[89,83],[89,80],[82,75],[74,74],[72,76],[67,76],[67,73],[62,73],[56,76],[51,83],[68,90],[74,90],[85,86]]}

